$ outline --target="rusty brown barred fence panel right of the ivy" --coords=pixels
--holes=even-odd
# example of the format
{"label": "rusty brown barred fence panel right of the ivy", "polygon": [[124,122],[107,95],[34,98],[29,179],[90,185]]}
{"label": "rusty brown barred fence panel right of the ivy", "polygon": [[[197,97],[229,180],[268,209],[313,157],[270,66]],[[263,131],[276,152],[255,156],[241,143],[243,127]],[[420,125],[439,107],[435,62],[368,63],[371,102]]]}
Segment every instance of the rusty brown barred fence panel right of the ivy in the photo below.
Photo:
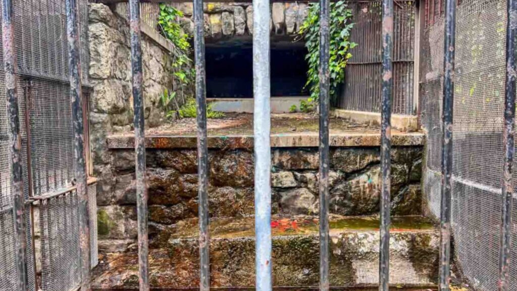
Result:
{"label": "rusty brown barred fence panel right of the ivy", "polygon": [[[381,112],[382,6],[380,1],[351,1],[350,40],[358,45],[345,67],[345,85],[337,106]],[[392,112],[413,114],[415,3],[398,1],[393,19]]]}

